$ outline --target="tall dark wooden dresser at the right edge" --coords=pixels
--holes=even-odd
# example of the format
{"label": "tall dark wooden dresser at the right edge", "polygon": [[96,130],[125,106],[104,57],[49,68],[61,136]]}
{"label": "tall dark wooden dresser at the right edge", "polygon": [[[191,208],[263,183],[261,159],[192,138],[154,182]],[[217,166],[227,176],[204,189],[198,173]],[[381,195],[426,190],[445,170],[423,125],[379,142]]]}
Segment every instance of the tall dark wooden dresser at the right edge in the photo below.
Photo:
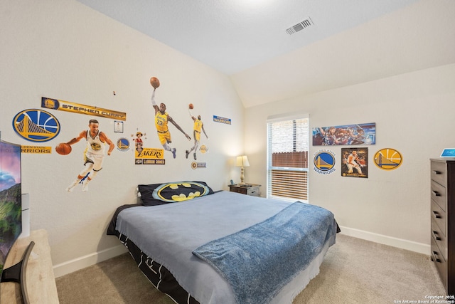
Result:
{"label": "tall dark wooden dresser at the right edge", "polygon": [[431,169],[432,261],[455,295],[455,158],[431,159]]}

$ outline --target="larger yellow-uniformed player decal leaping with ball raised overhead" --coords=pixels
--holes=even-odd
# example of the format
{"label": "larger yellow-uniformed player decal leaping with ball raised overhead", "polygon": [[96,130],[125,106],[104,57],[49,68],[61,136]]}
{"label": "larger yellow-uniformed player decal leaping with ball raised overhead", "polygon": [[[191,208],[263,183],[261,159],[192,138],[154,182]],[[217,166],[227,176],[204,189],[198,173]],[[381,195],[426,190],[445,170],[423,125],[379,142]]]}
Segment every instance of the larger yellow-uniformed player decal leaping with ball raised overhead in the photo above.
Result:
{"label": "larger yellow-uniformed player decal leaping with ball raised overhead", "polygon": [[[166,112],[166,105],[164,103],[160,103],[159,106],[156,105],[155,90],[156,88],[159,87],[159,81],[157,78],[154,79],[153,78],[154,77],[150,78],[150,84],[154,88],[154,92],[151,94],[151,104],[154,106],[155,109],[155,126],[156,131],[158,132],[159,142],[161,142],[161,145],[163,145],[164,150],[171,151],[173,158],[176,158],[176,148],[171,148],[168,145],[172,142],[171,132],[169,132],[168,128],[168,122],[171,122],[173,125],[175,125],[176,128],[180,130],[180,132],[182,132],[186,136],[186,138],[188,138],[188,140],[191,140],[191,137],[188,134],[186,134],[186,132],[183,131],[183,129],[179,125],[177,125],[177,122],[175,122],[171,116],[168,115],[168,113]],[[153,80],[158,82],[154,82]]]}

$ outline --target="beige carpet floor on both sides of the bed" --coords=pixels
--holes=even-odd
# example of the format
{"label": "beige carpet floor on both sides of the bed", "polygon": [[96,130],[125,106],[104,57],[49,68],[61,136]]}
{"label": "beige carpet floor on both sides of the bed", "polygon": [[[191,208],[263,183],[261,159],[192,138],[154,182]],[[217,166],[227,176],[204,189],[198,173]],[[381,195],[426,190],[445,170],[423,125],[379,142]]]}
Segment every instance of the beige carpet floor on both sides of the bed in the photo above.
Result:
{"label": "beige carpet floor on both sides of the bed", "polygon": [[[173,303],[142,275],[129,253],[61,276],[56,283],[61,304]],[[444,294],[429,256],[338,234],[321,272],[294,304],[417,303]]]}

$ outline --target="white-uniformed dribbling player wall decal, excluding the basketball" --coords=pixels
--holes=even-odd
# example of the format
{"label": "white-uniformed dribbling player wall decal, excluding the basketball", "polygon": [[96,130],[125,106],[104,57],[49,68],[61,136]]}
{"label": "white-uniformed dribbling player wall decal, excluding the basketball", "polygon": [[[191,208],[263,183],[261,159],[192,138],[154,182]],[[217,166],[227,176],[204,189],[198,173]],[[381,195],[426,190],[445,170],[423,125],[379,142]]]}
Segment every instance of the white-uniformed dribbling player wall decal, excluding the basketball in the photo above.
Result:
{"label": "white-uniformed dribbling player wall decal, excluding the basketball", "polygon": [[82,191],[88,191],[88,183],[102,169],[102,162],[105,158],[105,144],[109,145],[107,155],[110,155],[112,150],[114,150],[115,146],[109,140],[109,137],[98,130],[99,125],[97,120],[90,120],[88,123],[89,130],[80,132],[79,136],[67,142],[68,145],[74,145],[76,142],[82,140],[82,138],[87,140],[87,148],[84,151],[85,168],[77,175],[77,179],[66,188],[68,192],[72,192],[79,183],[82,183]]}

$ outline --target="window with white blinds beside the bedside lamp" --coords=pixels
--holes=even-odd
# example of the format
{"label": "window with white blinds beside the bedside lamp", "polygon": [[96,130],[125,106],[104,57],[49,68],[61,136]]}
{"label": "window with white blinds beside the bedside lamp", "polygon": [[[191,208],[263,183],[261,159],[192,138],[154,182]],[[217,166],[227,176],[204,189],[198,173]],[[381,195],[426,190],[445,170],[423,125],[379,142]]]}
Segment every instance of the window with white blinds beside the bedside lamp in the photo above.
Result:
{"label": "window with white blinds beside the bedside lamp", "polygon": [[309,118],[267,121],[267,197],[308,201]]}

